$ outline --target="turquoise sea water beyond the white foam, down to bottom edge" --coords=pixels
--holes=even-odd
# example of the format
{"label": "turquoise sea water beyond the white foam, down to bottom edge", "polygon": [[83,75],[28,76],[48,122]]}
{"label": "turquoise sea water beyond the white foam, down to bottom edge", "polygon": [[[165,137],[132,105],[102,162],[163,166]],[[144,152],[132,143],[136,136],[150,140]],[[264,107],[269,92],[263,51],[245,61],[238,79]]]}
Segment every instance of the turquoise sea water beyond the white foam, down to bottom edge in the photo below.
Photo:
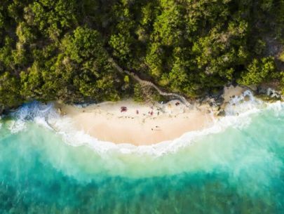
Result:
{"label": "turquoise sea water beyond the white foam, down to bottom edge", "polygon": [[[151,154],[73,147],[27,121],[0,129],[0,213],[284,213],[284,109]],[[186,145],[186,144],[184,144]]]}

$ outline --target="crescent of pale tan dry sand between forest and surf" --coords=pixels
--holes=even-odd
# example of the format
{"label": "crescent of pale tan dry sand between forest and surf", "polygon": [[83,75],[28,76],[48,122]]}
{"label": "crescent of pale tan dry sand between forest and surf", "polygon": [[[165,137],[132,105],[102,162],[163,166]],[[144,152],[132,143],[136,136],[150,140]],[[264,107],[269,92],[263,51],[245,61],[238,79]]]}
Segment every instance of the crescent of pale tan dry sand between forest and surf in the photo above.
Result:
{"label": "crescent of pale tan dry sand between forest and surf", "polygon": [[[245,88],[229,86],[222,94],[222,108]],[[62,116],[72,120],[77,131],[93,138],[115,144],[155,145],[174,140],[184,133],[209,128],[217,119],[220,105],[210,105],[210,100],[186,107],[178,100],[165,104],[158,102],[137,103],[133,100],[102,102],[80,107],[55,102]],[[125,111],[121,111],[126,107]]]}

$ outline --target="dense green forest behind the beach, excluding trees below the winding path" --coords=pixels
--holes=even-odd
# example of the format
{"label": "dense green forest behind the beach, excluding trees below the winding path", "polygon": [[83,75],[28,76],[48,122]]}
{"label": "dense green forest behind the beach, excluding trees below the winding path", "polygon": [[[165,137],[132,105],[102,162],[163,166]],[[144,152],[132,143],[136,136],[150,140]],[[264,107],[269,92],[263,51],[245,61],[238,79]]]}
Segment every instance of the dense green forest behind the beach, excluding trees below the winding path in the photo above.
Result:
{"label": "dense green forest behind the beach, excluding trees below the winding path", "polygon": [[0,103],[142,98],[109,57],[189,98],[281,85],[283,35],[284,0],[1,0]]}

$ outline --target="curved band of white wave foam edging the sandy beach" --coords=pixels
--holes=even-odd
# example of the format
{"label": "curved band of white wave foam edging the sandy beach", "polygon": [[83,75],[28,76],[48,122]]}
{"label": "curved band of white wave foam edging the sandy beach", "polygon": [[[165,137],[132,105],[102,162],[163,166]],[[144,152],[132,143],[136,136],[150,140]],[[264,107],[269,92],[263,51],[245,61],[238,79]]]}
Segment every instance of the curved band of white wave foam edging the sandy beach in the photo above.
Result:
{"label": "curved band of white wave foam edging the sandy beach", "polygon": [[74,147],[87,145],[98,154],[121,152],[122,154],[140,153],[161,156],[191,145],[198,137],[220,133],[230,126],[243,128],[250,123],[250,116],[260,112],[262,109],[273,109],[278,112],[283,107],[283,102],[265,103],[257,100],[251,91],[245,91],[243,95],[231,99],[225,109],[226,116],[215,119],[209,128],[184,133],[180,138],[159,142],[154,145],[135,146],[128,143],[118,145],[114,142],[105,142],[93,138],[83,131],[76,130],[72,119],[67,116],[60,116],[51,102],[47,105],[43,105],[40,102],[32,102],[29,105],[20,107],[20,109],[12,113],[15,121],[11,123],[10,130],[11,133],[17,133],[26,128],[25,123],[27,121],[34,121],[43,127],[53,128],[68,145]]}

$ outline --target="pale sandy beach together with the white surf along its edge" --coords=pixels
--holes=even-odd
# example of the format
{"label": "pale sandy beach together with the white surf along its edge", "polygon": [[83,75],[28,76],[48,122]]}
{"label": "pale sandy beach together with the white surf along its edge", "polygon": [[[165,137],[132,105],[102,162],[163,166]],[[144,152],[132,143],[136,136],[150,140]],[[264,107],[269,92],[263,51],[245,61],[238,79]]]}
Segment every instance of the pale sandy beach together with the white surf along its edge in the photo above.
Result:
{"label": "pale sandy beach together with the white surf along its edge", "polygon": [[[243,122],[248,122],[248,115],[263,107],[278,109],[284,102],[283,97],[282,102],[277,101],[275,93],[277,91],[266,96],[270,100],[264,100],[248,88],[229,86],[217,97],[206,96],[193,102],[191,107],[184,107],[177,100],[165,104],[123,100],[96,105],[32,102],[10,112],[16,121],[12,121],[8,129],[17,133],[25,128],[25,121],[32,120],[59,133],[70,145],[88,144],[100,152],[119,149],[123,153],[137,148],[160,151],[161,145],[168,145],[160,151],[163,153],[173,149],[173,145],[191,143],[196,136],[216,133],[231,125],[243,126]],[[121,112],[124,105],[128,109]]]}

